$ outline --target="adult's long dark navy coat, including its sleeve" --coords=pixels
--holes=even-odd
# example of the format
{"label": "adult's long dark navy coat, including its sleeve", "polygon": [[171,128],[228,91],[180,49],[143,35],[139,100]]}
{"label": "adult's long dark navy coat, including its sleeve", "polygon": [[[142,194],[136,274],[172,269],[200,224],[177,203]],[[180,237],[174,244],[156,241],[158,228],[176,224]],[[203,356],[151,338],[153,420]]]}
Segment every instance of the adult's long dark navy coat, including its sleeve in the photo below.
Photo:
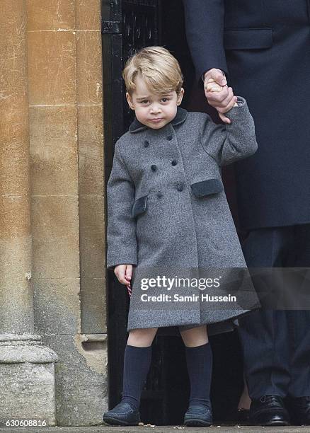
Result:
{"label": "adult's long dark navy coat, including its sleeve", "polygon": [[183,0],[197,79],[212,67],[248,101],[258,151],[235,164],[244,229],[310,222],[309,0]]}

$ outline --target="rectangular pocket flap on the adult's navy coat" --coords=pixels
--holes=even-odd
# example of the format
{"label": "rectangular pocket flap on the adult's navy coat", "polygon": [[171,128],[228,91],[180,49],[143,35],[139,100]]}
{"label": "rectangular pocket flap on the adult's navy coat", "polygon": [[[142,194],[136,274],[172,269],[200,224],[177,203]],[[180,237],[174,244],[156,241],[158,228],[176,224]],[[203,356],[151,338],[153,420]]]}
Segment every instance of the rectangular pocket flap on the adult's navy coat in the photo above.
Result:
{"label": "rectangular pocket flap on the adult's navy coat", "polygon": [[225,50],[260,50],[272,46],[271,28],[236,28],[224,30]]}

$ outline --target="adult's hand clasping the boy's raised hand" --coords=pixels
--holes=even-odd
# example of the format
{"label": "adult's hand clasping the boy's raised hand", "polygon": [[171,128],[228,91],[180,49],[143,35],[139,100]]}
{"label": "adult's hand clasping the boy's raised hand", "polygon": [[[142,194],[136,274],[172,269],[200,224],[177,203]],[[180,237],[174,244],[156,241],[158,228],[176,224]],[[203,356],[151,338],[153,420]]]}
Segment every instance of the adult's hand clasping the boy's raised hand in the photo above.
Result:
{"label": "adult's hand clasping the boy's raised hand", "polygon": [[[207,91],[207,81],[209,79],[214,79],[219,86],[223,87],[223,90],[219,92]],[[212,68],[205,73],[205,96],[209,105],[217,109],[220,119],[224,123],[231,123],[224,113],[234,107],[237,98],[234,96],[232,88],[227,86],[226,77],[221,69]]]}

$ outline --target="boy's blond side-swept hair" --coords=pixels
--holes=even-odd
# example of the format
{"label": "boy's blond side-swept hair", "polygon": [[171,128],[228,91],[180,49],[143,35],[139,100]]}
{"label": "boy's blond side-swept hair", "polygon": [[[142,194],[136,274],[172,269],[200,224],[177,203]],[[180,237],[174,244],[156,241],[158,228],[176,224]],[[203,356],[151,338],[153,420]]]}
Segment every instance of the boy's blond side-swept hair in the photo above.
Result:
{"label": "boy's blond side-swept hair", "polygon": [[141,76],[147,88],[154,93],[180,93],[183,74],[176,57],[163,47],[146,47],[127,60],[122,71],[127,92],[132,95],[134,80]]}

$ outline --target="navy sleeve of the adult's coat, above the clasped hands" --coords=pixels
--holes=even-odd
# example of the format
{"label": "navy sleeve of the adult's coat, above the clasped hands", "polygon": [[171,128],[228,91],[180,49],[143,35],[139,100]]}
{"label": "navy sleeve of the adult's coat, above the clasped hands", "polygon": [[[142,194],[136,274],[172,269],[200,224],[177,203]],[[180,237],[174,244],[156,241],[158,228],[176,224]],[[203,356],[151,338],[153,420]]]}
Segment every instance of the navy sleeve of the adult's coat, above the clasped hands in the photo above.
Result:
{"label": "navy sleeve of the adult's coat, above the clasped hands", "polygon": [[196,78],[201,80],[208,69],[229,71],[224,51],[224,0],[183,0],[185,31],[195,65]]}

